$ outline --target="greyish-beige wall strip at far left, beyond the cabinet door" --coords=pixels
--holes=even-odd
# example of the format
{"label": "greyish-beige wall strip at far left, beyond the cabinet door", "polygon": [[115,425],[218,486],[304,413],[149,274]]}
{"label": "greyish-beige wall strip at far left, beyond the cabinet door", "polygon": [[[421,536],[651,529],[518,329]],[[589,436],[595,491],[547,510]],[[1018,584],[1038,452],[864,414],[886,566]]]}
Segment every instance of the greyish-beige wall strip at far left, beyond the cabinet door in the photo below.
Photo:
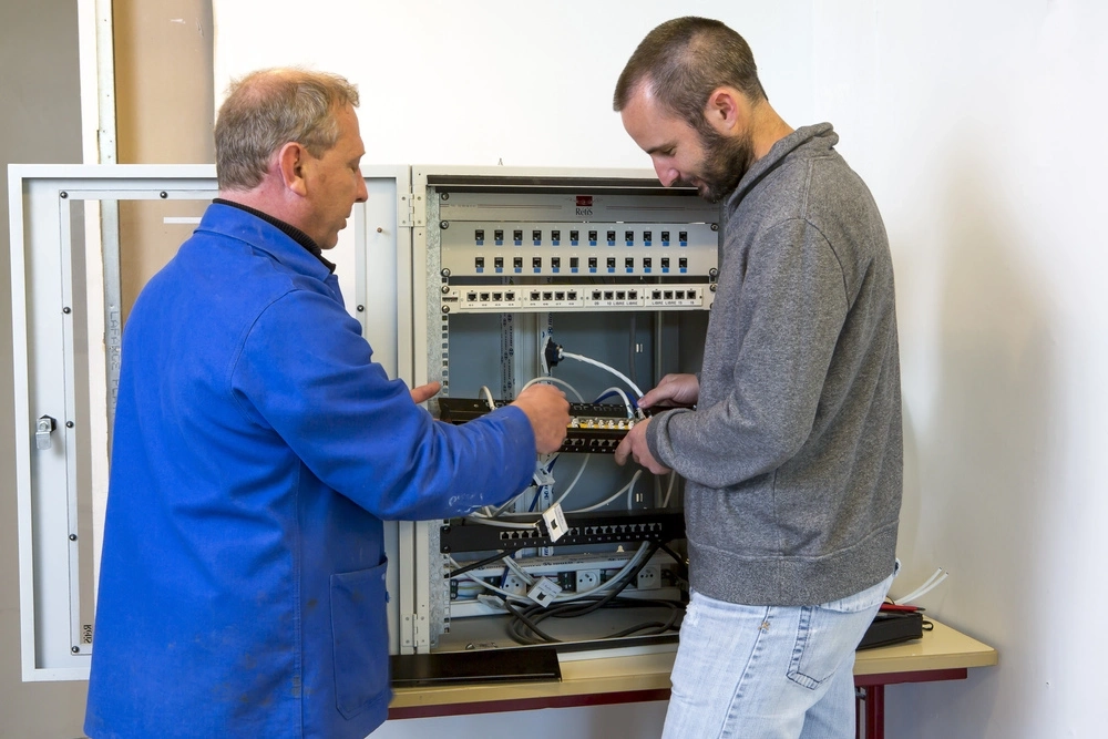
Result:
{"label": "greyish-beige wall strip at far left, beyond the cabinet door", "polygon": [[0,738],[65,739],[81,735],[85,684],[23,682],[20,668],[8,164],[81,161],[76,3],[0,2]]}

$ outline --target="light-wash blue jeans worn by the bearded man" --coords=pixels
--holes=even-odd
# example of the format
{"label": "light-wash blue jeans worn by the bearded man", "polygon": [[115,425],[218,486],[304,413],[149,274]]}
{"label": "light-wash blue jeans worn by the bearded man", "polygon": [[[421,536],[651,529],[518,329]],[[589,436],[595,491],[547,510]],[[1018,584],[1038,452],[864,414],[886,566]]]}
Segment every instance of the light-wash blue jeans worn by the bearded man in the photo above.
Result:
{"label": "light-wash blue jeans worn by the bearded man", "polygon": [[741,606],[693,593],[663,739],[850,739],[854,648],[889,592],[818,606]]}

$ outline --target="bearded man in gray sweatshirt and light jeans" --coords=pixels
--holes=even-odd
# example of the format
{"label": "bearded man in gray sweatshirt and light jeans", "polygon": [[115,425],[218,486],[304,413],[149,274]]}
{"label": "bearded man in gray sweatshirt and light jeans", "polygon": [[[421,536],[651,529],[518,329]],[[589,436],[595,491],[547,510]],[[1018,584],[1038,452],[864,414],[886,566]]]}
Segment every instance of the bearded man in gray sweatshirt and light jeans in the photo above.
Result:
{"label": "bearded man in gray sweatshirt and light jeans", "polygon": [[693,597],[666,737],[852,737],[854,648],[895,567],[902,487],[892,259],[831,125],[793,130],[718,21],[652,31],[615,92],[666,186],[721,203],[699,377],[616,451],[686,482]]}

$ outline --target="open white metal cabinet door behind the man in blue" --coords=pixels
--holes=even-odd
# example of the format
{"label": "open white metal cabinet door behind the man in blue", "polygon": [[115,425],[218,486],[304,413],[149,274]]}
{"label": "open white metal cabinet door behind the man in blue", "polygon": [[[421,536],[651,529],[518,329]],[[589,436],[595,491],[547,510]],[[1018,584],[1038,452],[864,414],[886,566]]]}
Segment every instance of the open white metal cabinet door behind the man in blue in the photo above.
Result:
{"label": "open white metal cabinet door behind the man in blue", "polygon": [[[411,208],[397,196],[410,174],[363,174],[369,201],[329,256],[375,358],[410,381],[410,289],[397,290],[410,286]],[[215,167],[11,165],[9,182],[22,676],[86,679],[123,327],[216,197]],[[387,527],[392,562],[398,540]]]}

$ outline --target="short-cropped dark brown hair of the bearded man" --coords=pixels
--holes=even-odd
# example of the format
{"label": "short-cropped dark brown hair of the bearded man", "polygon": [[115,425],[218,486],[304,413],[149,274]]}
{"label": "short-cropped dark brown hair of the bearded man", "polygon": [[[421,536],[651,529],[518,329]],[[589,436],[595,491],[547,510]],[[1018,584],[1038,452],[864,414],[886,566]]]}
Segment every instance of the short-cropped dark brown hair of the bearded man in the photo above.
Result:
{"label": "short-cropped dark brown hair of the bearded man", "polygon": [[720,85],[736,88],[755,102],[767,100],[742,37],[719,21],[691,16],[666,21],[646,34],[616,82],[616,112],[640,84],[649,84],[666,109],[698,130],[708,95]]}

